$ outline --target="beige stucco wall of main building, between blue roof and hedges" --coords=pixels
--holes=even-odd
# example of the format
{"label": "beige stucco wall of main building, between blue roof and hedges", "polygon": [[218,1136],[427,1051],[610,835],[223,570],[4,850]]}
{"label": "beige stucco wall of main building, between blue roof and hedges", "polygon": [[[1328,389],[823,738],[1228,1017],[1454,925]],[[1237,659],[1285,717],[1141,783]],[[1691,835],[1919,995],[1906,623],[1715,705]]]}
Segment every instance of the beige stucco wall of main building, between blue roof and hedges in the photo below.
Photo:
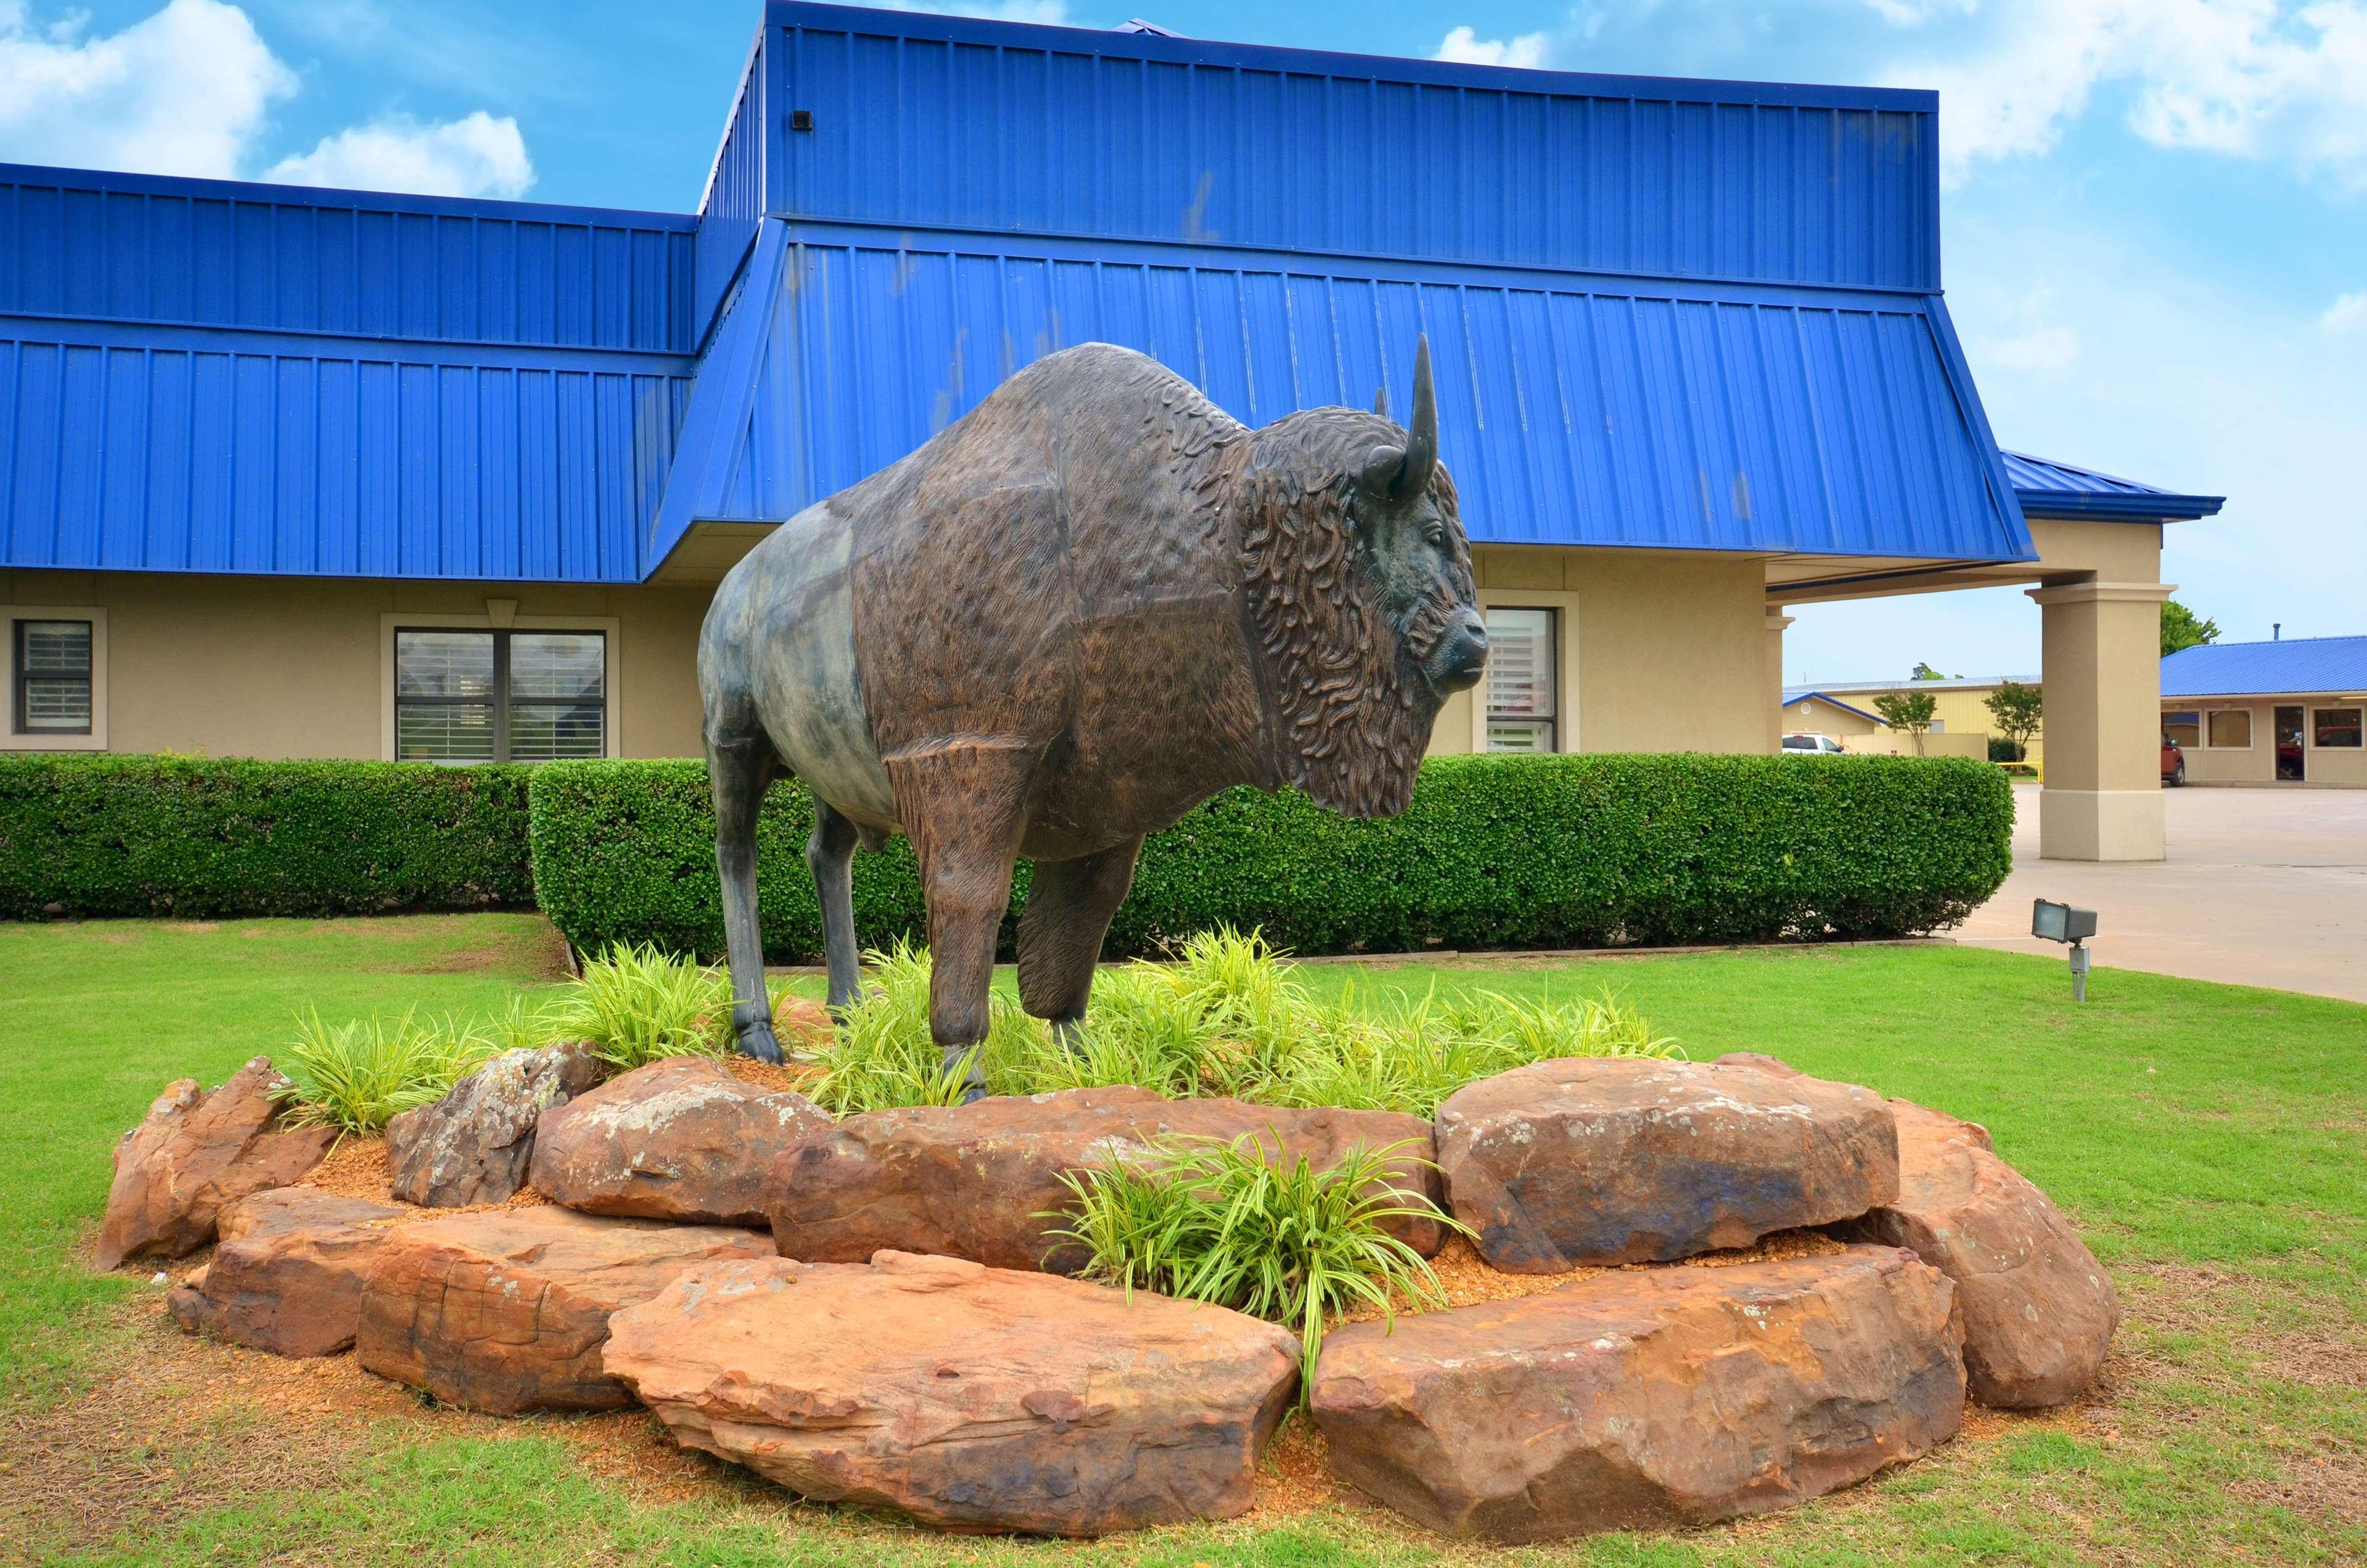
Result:
{"label": "beige stucco wall of main building, between blue roof and hedges", "polygon": [[[1636,550],[1477,552],[1482,604],[1557,613],[1565,751],[1771,751],[1756,559]],[[556,587],[175,573],[0,573],[0,604],[107,613],[109,751],[388,753],[388,625],[570,623],[611,632],[615,756],[696,756],[708,587]],[[507,618],[507,621],[504,621]],[[1432,751],[1482,741],[1475,694]]]}

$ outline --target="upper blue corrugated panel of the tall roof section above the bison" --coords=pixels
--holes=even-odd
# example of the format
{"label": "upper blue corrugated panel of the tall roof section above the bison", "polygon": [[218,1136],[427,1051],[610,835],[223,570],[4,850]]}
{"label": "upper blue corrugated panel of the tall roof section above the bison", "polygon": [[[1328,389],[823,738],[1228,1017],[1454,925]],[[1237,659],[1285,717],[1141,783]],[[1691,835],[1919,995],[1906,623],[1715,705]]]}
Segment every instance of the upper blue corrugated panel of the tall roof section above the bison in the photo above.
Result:
{"label": "upper blue corrugated panel of the tall roof section above the bison", "polygon": [[[767,211],[1939,287],[1936,97],[767,7]],[[807,109],[814,128],[788,130]],[[729,147],[727,147],[729,152]]]}

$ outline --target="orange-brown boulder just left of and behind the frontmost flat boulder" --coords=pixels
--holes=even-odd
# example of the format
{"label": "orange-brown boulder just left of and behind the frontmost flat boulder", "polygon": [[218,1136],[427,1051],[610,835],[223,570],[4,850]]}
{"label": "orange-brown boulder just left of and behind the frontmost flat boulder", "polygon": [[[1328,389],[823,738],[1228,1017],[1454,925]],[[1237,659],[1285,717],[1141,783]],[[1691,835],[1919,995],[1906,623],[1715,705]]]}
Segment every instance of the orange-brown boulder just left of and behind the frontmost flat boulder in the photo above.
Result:
{"label": "orange-brown boulder just left of and behind the frontmost flat boulder", "polygon": [[362,1284],[355,1357],[495,1416],[615,1409],[632,1397],[599,1367],[608,1315],[724,1258],[772,1258],[772,1241],[552,1206],[402,1225]]}

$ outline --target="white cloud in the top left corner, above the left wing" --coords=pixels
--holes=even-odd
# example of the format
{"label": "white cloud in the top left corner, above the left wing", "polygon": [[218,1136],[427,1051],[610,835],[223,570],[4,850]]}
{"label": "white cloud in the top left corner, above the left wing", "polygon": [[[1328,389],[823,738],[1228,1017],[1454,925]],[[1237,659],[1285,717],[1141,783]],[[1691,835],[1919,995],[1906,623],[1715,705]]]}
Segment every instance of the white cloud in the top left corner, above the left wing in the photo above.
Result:
{"label": "white cloud in the top left corner, above the left wing", "polygon": [[33,31],[0,0],[0,156],[232,178],[272,102],[296,90],[253,24],[218,0],[170,0],[121,33],[73,17]]}

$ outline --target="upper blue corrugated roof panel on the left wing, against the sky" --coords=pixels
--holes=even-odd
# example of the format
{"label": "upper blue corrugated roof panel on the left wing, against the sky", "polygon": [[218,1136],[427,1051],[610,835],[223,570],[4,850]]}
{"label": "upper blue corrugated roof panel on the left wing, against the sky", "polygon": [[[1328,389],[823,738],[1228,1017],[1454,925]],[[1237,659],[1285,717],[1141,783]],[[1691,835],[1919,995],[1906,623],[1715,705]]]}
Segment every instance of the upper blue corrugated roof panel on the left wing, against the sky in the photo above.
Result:
{"label": "upper blue corrugated roof panel on the left wing, against the sky", "polygon": [[0,315],[691,353],[696,218],[0,163]]}

